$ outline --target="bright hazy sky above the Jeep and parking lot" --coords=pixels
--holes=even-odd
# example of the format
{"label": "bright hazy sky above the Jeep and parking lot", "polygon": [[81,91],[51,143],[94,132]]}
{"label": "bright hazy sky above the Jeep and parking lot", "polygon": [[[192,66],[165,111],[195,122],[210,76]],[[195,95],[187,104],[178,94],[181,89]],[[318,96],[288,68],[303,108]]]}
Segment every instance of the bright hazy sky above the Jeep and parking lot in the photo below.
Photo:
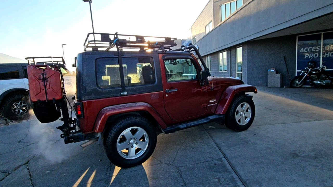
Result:
{"label": "bright hazy sky above the Jeep and parking lot", "polygon": [[[97,33],[186,39],[208,0],[92,0]],[[0,0],[0,53],[24,59],[63,56],[72,64],[92,32],[82,0]],[[190,16],[191,15],[191,16]]]}

